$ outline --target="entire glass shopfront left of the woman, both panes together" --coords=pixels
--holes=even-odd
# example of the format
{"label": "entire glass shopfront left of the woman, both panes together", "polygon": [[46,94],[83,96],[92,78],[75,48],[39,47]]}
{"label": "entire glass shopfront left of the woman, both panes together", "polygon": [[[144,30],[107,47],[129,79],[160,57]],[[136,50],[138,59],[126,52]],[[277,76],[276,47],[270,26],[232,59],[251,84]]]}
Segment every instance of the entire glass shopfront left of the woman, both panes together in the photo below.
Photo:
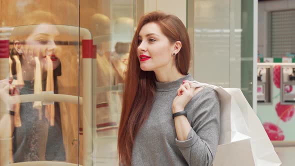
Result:
{"label": "entire glass shopfront left of the woman, both panes together", "polygon": [[136,4],[0,0],[0,165],[117,164]]}

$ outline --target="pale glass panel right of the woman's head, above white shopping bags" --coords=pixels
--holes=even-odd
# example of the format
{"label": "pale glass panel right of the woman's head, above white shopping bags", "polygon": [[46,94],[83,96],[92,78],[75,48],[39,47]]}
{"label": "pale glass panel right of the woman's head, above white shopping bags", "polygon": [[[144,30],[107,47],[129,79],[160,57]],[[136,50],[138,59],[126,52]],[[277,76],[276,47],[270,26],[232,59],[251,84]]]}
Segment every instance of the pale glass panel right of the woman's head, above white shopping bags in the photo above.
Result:
{"label": "pale glass panel right of the woman's head, above white shopping bags", "polygon": [[201,82],[240,88],[255,109],[253,2],[188,0],[187,18],[193,42],[194,77]]}

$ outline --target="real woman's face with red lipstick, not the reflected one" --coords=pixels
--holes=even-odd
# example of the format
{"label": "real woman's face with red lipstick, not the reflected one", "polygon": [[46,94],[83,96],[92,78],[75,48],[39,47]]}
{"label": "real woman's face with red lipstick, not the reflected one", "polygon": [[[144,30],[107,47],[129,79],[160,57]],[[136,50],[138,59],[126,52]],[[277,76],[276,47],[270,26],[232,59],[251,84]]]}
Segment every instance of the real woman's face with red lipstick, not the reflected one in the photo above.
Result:
{"label": "real woman's face with red lipstick, not the reflected one", "polygon": [[162,70],[173,65],[173,45],[154,22],[144,24],[138,35],[137,57],[144,71]]}

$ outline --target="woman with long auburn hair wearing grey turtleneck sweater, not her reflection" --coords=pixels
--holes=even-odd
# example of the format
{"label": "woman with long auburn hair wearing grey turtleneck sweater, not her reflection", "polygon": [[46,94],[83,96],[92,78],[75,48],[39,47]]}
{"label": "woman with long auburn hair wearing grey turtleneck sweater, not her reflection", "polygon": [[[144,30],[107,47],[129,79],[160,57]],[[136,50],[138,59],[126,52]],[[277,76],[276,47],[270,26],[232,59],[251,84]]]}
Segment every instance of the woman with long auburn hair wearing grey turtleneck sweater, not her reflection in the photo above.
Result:
{"label": "woman with long auburn hair wearing grey turtleneck sweater, not her reflection", "polygon": [[211,88],[190,88],[189,60],[188,34],[179,18],[154,11],[140,19],[118,132],[121,165],[212,164],[219,101]]}

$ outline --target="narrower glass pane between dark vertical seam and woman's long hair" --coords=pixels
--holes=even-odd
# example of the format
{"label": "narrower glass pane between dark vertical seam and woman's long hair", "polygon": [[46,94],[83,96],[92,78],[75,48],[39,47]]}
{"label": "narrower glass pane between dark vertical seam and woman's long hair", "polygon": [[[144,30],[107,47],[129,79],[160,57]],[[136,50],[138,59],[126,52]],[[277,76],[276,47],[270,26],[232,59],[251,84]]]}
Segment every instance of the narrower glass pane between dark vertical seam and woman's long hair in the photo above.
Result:
{"label": "narrower glass pane between dark vertical seam and woman's long hair", "polygon": [[80,72],[80,92],[92,96],[86,101],[89,107],[83,106],[79,115],[79,163],[83,165],[118,164],[117,130],[134,32],[134,6],[135,0],[80,1],[80,27],[90,30],[93,45],[93,56],[83,58],[80,64],[85,71]]}

